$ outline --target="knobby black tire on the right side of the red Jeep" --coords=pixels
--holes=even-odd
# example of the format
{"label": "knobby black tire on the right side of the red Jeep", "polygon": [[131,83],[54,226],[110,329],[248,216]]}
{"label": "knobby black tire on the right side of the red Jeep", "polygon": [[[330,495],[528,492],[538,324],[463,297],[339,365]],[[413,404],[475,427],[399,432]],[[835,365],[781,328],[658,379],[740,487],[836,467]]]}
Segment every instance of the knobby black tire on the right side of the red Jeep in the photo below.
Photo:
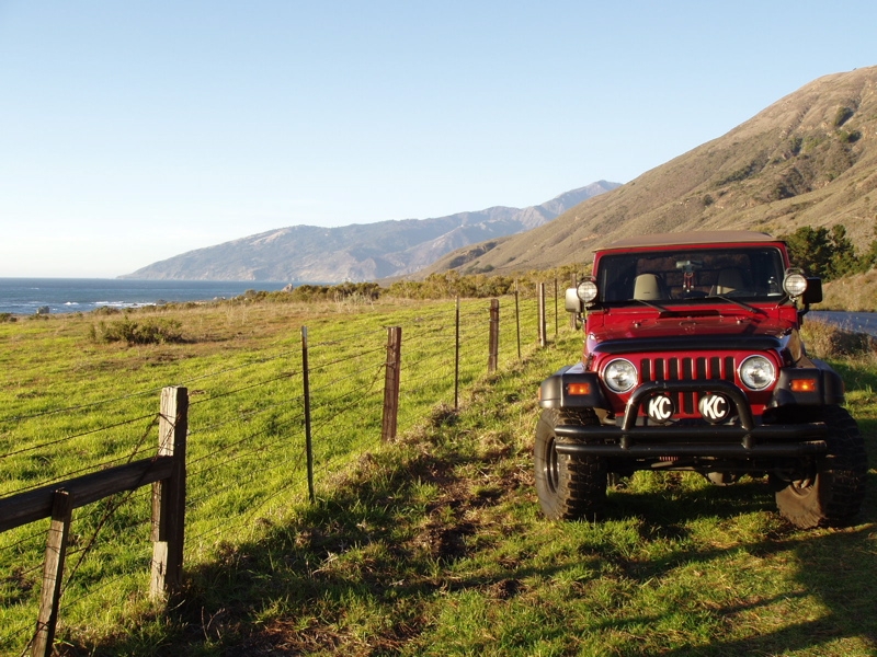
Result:
{"label": "knobby black tire on the right side of the red Jeep", "polygon": [[801,529],[847,525],[865,497],[868,471],[865,442],[856,420],[841,406],[827,406],[828,453],[815,473],[776,492],[776,506]]}

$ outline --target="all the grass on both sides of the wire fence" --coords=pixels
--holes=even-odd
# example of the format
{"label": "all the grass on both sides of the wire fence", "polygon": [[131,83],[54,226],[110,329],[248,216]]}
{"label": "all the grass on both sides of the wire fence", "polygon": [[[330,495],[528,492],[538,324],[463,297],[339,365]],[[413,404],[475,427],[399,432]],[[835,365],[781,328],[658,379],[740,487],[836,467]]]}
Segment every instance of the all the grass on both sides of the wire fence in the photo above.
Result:
{"label": "all the grass on both sides of the wire fence", "polygon": [[[421,347],[422,353],[411,356],[419,367],[407,376],[422,393],[414,396],[417,405],[403,413],[405,430],[395,443],[351,438],[348,451],[360,456],[352,466],[327,466],[316,505],[307,504],[300,489],[284,488],[284,495],[272,495],[277,486],[284,487],[285,476],[292,476],[287,470],[299,472],[292,463],[300,451],[261,448],[277,441],[287,427],[298,426],[297,411],[289,411],[289,416],[276,411],[272,392],[277,380],[300,367],[293,356],[299,349],[295,324],[314,326],[315,344],[353,345],[348,356],[318,359],[317,365],[328,369],[334,367],[330,361],[340,358],[345,371],[362,372],[350,385],[361,390],[368,389],[369,372],[377,365],[361,356],[368,349],[356,336],[380,335],[383,326],[403,318],[399,323],[412,326],[412,337],[441,345],[444,334],[431,324],[431,318],[433,313],[444,318],[449,307],[348,309],[341,316],[337,310],[328,307],[322,315],[307,318],[274,307],[191,311],[182,324],[192,343],[179,347],[90,345],[83,337],[89,322],[93,323],[89,319],[0,326],[5,345],[0,402],[5,417],[27,416],[11,423],[23,426],[14,429],[15,436],[36,426],[37,414],[59,400],[80,399],[83,381],[122,377],[128,385],[136,382],[137,390],[152,390],[216,372],[203,379],[202,396],[212,401],[198,411],[210,416],[209,426],[193,427],[205,445],[226,442],[223,437],[230,434],[229,427],[240,435],[241,412],[252,414],[243,423],[250,428],[242,433],[253,448],[241,447],[228,459],[230,470],[223,471],[225,491],[218,498],[212,488],[207,492],[208,482],[216,480],[207,476],[204,465],[210,460],[203,456],[216,447],[205,447],[202,457],[193,457],[201,458],[193,468],[197,471],[200,462],[203,475],[194,477],[193,496],[198,502],[187,531],[200,542],[186,546],[183,593],[167,613],[146,603],[137,591],[148,566],[148,543],[143,540],[144,554],[138,554],[116,540],[132,527],[148,529],[148,518],[114,516],[119,529],[106,532],[112,539],[106,556],[94,560],[92,555],[88,562],[92,565],[83,568],[94,572],[80,573],[80,588],[71,589],[80,602],[65,598],[62,653],[185,653],[193,657],[877,654],[877,593],[870,585],[877,570],[873,468],[858,523],[844,529],[800,531],[788,526],[775,512],[764,482],[718,487],[680,473],[638,473],[624,481],[610,493],[608,518],[596,525],[555,523],[540,517],[531,453],[538,414],[535,392],[548,373],[578,359],[580,338],[568,331],[561,331],[546,349],[526,341],[521,361],[513,348],[505,351],[496,376],[483,374],[481,349],[471,347],[469,358],[478,365],[467,374],[470,384],[464,389],[457,413],[449,406],[447,387],[435,383],[444,380],[438,372],[448,365],[446,351]],[[481,313],[472,310],[470,324]],[[331,333],[323,337],[318,326],[331,327]],[[506,347],[510,337],[504,334]],[[49,357],[52,348],[65,349],[64,366]],[[42,351],[45,362],[27,369],[22,351]],[[289,354],[288,362],[285,354]],[[259,367],[253,360],[261,360]],[[835,365],[846,381],[848,407],[875,464],[877,367],[869,356],[839,359]],[[105,372],[103,378],[99,372]],[[168,372],[179,373],[169,378]],[[250,384],[258,394],[225,394]],[[270,394],[263,394],[265,390]],[[95,392],[84,401],[117,394]],[[292,396],[288,391],[277,394]],[[143,402],[134,416],[148,417],[148,406],[156,399]],[[335,411],[356,408],[343,401],[348,399],[344,391],[324,399]],[[330,415],[361,434],[368,424],[353,413],[352,418]],[[112,424],[114,417],[106,411],[102,422]],[[78,433],[89,426],[78,413],[71,422]],[[333,436],[341,425],[327,417],[321,435]],[[64,436],[70,428],[55,430]],[[140,427],[139,434],[144,430]],[[13,428],[3,424],[0,431],[8,445]],[[26,434],[23,439],[37,440]],[[87,437],[77,440],[84,443]],[[139,440],[135,436],[125,443],[119,438],[116,451],[126,454],[139,449]],[[71,451],[80,447],[77,442]],[[289,468],[278,465],[266,480],[255,477],[254,471],[264,469],[266,454],[271,463],[280,459]],[[50,460],[47,465],[55,468]],[[7,485],[5,466],[0,466]],[[27,473],[24,465],[16,468],[21,469],[15,475],[19,483],[9,484],[11,489]],[[300,476],[293,479],[300,486]],[[254,486],[264,491],[254,492]],[[254,504],[260,505],[259,512],[248,515]],[[91,510],[81,522],[87,525],[89,514],[94,516],[91,522],[98,523],[100,516]],[[228,538],[215,540],[216,532],[225,535],[227,526],[234,530]],[[89,530],[78,531],[89,535]],[[39,528],[30,527],[31,534],[22,540],[38,544]],[[103,540],[104,533],[100,535]],[[22,590],[27,576],[10,564],[11,555],[23,551],[4,545],[0,545],[8,567],[2,613],[21,622],[16,613],[26,607]],[[111,553],[122,555],[123,563],[113,566],[112,584],[100,585],[105,574],[92,562],[106,561]],[[135,575],[121,574],[128,570]],[[92,592],[100,591],[100,586],[110,595]],[[114,602],[107,604],[107,599]],[[9,654],[21,652],[14,638],[7,639]]]}

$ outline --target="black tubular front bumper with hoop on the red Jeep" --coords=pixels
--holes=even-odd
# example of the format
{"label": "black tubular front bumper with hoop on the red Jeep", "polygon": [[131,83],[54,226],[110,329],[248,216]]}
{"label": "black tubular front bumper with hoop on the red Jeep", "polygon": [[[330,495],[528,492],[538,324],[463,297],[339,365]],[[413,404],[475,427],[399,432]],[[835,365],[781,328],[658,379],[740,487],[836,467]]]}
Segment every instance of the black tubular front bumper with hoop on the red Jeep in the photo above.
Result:
{"label": "black tubular front bumper with hoop on the red Jeep", "polygon": [[[637,426],[649,397],[676,392],[721,393],[736,406],[733,424]],[[640,385],[627,403],[620,426],[555,427],[561,454],[647,459],[704,457],[726,459],[793,458],[824,453],[823,423],[756,425],[743,392],[726,381],[659,381]]]}

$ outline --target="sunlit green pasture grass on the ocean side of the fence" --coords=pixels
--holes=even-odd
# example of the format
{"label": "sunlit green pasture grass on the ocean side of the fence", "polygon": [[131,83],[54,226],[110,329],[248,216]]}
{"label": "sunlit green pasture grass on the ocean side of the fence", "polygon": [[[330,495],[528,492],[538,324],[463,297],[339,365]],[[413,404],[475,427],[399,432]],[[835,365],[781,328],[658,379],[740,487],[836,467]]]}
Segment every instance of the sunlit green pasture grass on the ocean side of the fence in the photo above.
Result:
{"label": "sunlit green pasture grass on the ocean side of the fence", "polygon": [[[504,304],[508,360],[513,322]],[[464,387],[486,370],[486,308],[462,304]],[[300,326],[308,326],[320,492],[379,443],[386,326],[405,331],[400,429],[436,401],[453,404],[454,315],[453,302],[398,301],[132,313],[132,324],[182,326],[182,343],[158,345],[95,339],[96,315],[4,324],[0,494],[151,457],[159,390],[184,384],[191,396],[185,557],[190,565],[214,560],[307,499]],[[531,333],[533,324],[524,318]],[[149,508],[144,488],[76,511],[61,609],[69,632],[106,634],[149,612]],[[20,650],[35,622],[46,527],[0,534],[2,648]]]}

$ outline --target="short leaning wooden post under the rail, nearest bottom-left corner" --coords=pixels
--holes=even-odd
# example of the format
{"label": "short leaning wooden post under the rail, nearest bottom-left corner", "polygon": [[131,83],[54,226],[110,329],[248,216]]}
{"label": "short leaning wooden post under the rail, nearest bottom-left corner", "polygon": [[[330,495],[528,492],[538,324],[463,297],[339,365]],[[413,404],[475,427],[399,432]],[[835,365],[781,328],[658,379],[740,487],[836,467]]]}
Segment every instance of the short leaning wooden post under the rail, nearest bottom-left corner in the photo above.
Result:
{"label": "short leaning wooden post under the rail, nearest bottom-left corner", "polygon": [[62,488],[56,491],[52,505],[52,525],[46,540],[46,561],[43,564],[39,616],[31,650],[33,657],[49,657],[53,653],[61,597],[64,560],[67,555],[67,537],[70,534],[72,514],[72,495]]}

